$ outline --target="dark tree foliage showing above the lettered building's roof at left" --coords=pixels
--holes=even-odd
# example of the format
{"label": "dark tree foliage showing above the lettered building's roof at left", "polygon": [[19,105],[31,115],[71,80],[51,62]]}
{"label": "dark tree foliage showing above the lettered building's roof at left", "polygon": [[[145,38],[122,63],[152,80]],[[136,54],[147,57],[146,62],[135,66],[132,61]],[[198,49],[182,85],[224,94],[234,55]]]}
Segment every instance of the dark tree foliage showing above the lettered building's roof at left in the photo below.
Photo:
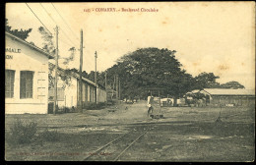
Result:
{"label": "dark tree foliage showing above the lettered building's roof at left", "polygon": [[29,33],[32,31],[32,28],[29,29],[12,29],[12,27],[8,26],[8,19],[5,19],[5,31],[14,34],[22,39],[27,39],[30,35]]}

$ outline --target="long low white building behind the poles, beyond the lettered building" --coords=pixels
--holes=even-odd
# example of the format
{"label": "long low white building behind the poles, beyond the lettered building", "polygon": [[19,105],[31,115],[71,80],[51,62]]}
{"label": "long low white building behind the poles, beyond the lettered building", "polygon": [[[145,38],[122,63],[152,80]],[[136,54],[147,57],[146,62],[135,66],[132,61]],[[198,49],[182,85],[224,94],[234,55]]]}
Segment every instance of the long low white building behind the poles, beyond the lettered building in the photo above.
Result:
{"label": "long low white building behind the poles, beyond the lettered building", "polygon": [[[50,66],[54,66],[49,63]],[[77,108],[79,100],[79,80],[80,76],[77,73],[65,73],[65,70],[58,68],[59,72],[69,76],[69,83],[65,84],[64,81],[58,78],[58,92],[57,104],[60,109],[62,108]],[[97,86],[97,87],[96,87]],[[96,96],[95,96],[96,94]],[[53,102],[54,90],[49,89],[49,102]],[[82,102],[83,107],[90,103],[103,103],[106,102],[106,91],[103,86],[96,84],[89,79],[82,78]]]}

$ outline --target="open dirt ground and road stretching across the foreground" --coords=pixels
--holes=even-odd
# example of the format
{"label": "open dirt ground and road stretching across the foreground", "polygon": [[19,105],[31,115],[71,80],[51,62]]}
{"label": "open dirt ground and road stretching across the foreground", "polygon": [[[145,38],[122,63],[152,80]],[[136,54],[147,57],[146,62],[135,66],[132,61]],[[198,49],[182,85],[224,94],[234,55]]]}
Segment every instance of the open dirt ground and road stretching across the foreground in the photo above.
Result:
{"label": "open dirt ground and road stretching across the foreground", "polygon": [[120,148],[148,128],[150,130],[134,142],[119,161],[244,162],[255,159],[253,108],[224,108],[219,123],[216,119],[220,108],[161,110],[164,118],[160,120],[148,118],[146,101],[87,110],[83,114],[6,115],[6,130],[19,117],[36,121],[39,128],[47,126],[61,135],[58,141],[43,144],[11,147],[6,143],[6,159],[83,161],[114,138],[130,134],[133,138],[123,138],[93,157],[94,161],[109,160],[116,148],[120,152]]}

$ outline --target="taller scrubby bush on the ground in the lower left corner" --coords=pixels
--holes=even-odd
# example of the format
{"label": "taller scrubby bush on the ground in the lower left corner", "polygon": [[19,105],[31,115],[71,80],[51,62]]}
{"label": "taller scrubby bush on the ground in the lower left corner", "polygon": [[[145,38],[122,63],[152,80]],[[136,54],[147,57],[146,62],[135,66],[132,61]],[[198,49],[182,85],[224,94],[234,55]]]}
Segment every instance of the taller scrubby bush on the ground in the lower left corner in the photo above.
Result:
{"label": "taller scrubby bush on the ground in the lower left corner", "polygon": [[26,124],[18,119],[10,130],[10,140],[12,143],[29,143],[37,132],[37,123],[31,122],[30,124]]}

